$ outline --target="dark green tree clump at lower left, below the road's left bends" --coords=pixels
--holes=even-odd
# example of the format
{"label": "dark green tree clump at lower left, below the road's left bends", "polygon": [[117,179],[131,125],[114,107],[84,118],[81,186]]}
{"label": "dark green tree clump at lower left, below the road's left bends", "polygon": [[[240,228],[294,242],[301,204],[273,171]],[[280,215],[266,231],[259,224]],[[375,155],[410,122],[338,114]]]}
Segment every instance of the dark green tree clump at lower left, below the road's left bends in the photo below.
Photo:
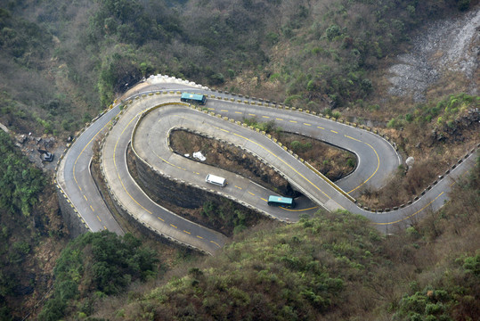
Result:
{"label": "dark green tree clump at lower left, below the road's left bends", "polygon": [[38,318],[58,320],[72,309],[79,316],[90,315],[95,300],[156,276],[158,263],[156,253],[133,235],[120,237],[108,231],[81,235],[61,252],[54,269],[53,298]]}

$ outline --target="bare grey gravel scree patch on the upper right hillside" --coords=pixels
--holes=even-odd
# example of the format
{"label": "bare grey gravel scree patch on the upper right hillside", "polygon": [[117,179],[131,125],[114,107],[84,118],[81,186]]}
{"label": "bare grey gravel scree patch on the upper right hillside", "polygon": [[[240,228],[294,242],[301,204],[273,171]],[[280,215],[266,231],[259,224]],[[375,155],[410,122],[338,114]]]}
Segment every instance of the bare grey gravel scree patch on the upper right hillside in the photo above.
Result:
{"label": "bare grey gravel scree patch on the upper right hillside", "polygon": [[469,94],[478,95],[480,6],[459,18],[432,22],[412,43],[411,53],[399,55],[389,69],[390,95],[425,101],[428,86],[447,70],[464,73],[470,79]]}

